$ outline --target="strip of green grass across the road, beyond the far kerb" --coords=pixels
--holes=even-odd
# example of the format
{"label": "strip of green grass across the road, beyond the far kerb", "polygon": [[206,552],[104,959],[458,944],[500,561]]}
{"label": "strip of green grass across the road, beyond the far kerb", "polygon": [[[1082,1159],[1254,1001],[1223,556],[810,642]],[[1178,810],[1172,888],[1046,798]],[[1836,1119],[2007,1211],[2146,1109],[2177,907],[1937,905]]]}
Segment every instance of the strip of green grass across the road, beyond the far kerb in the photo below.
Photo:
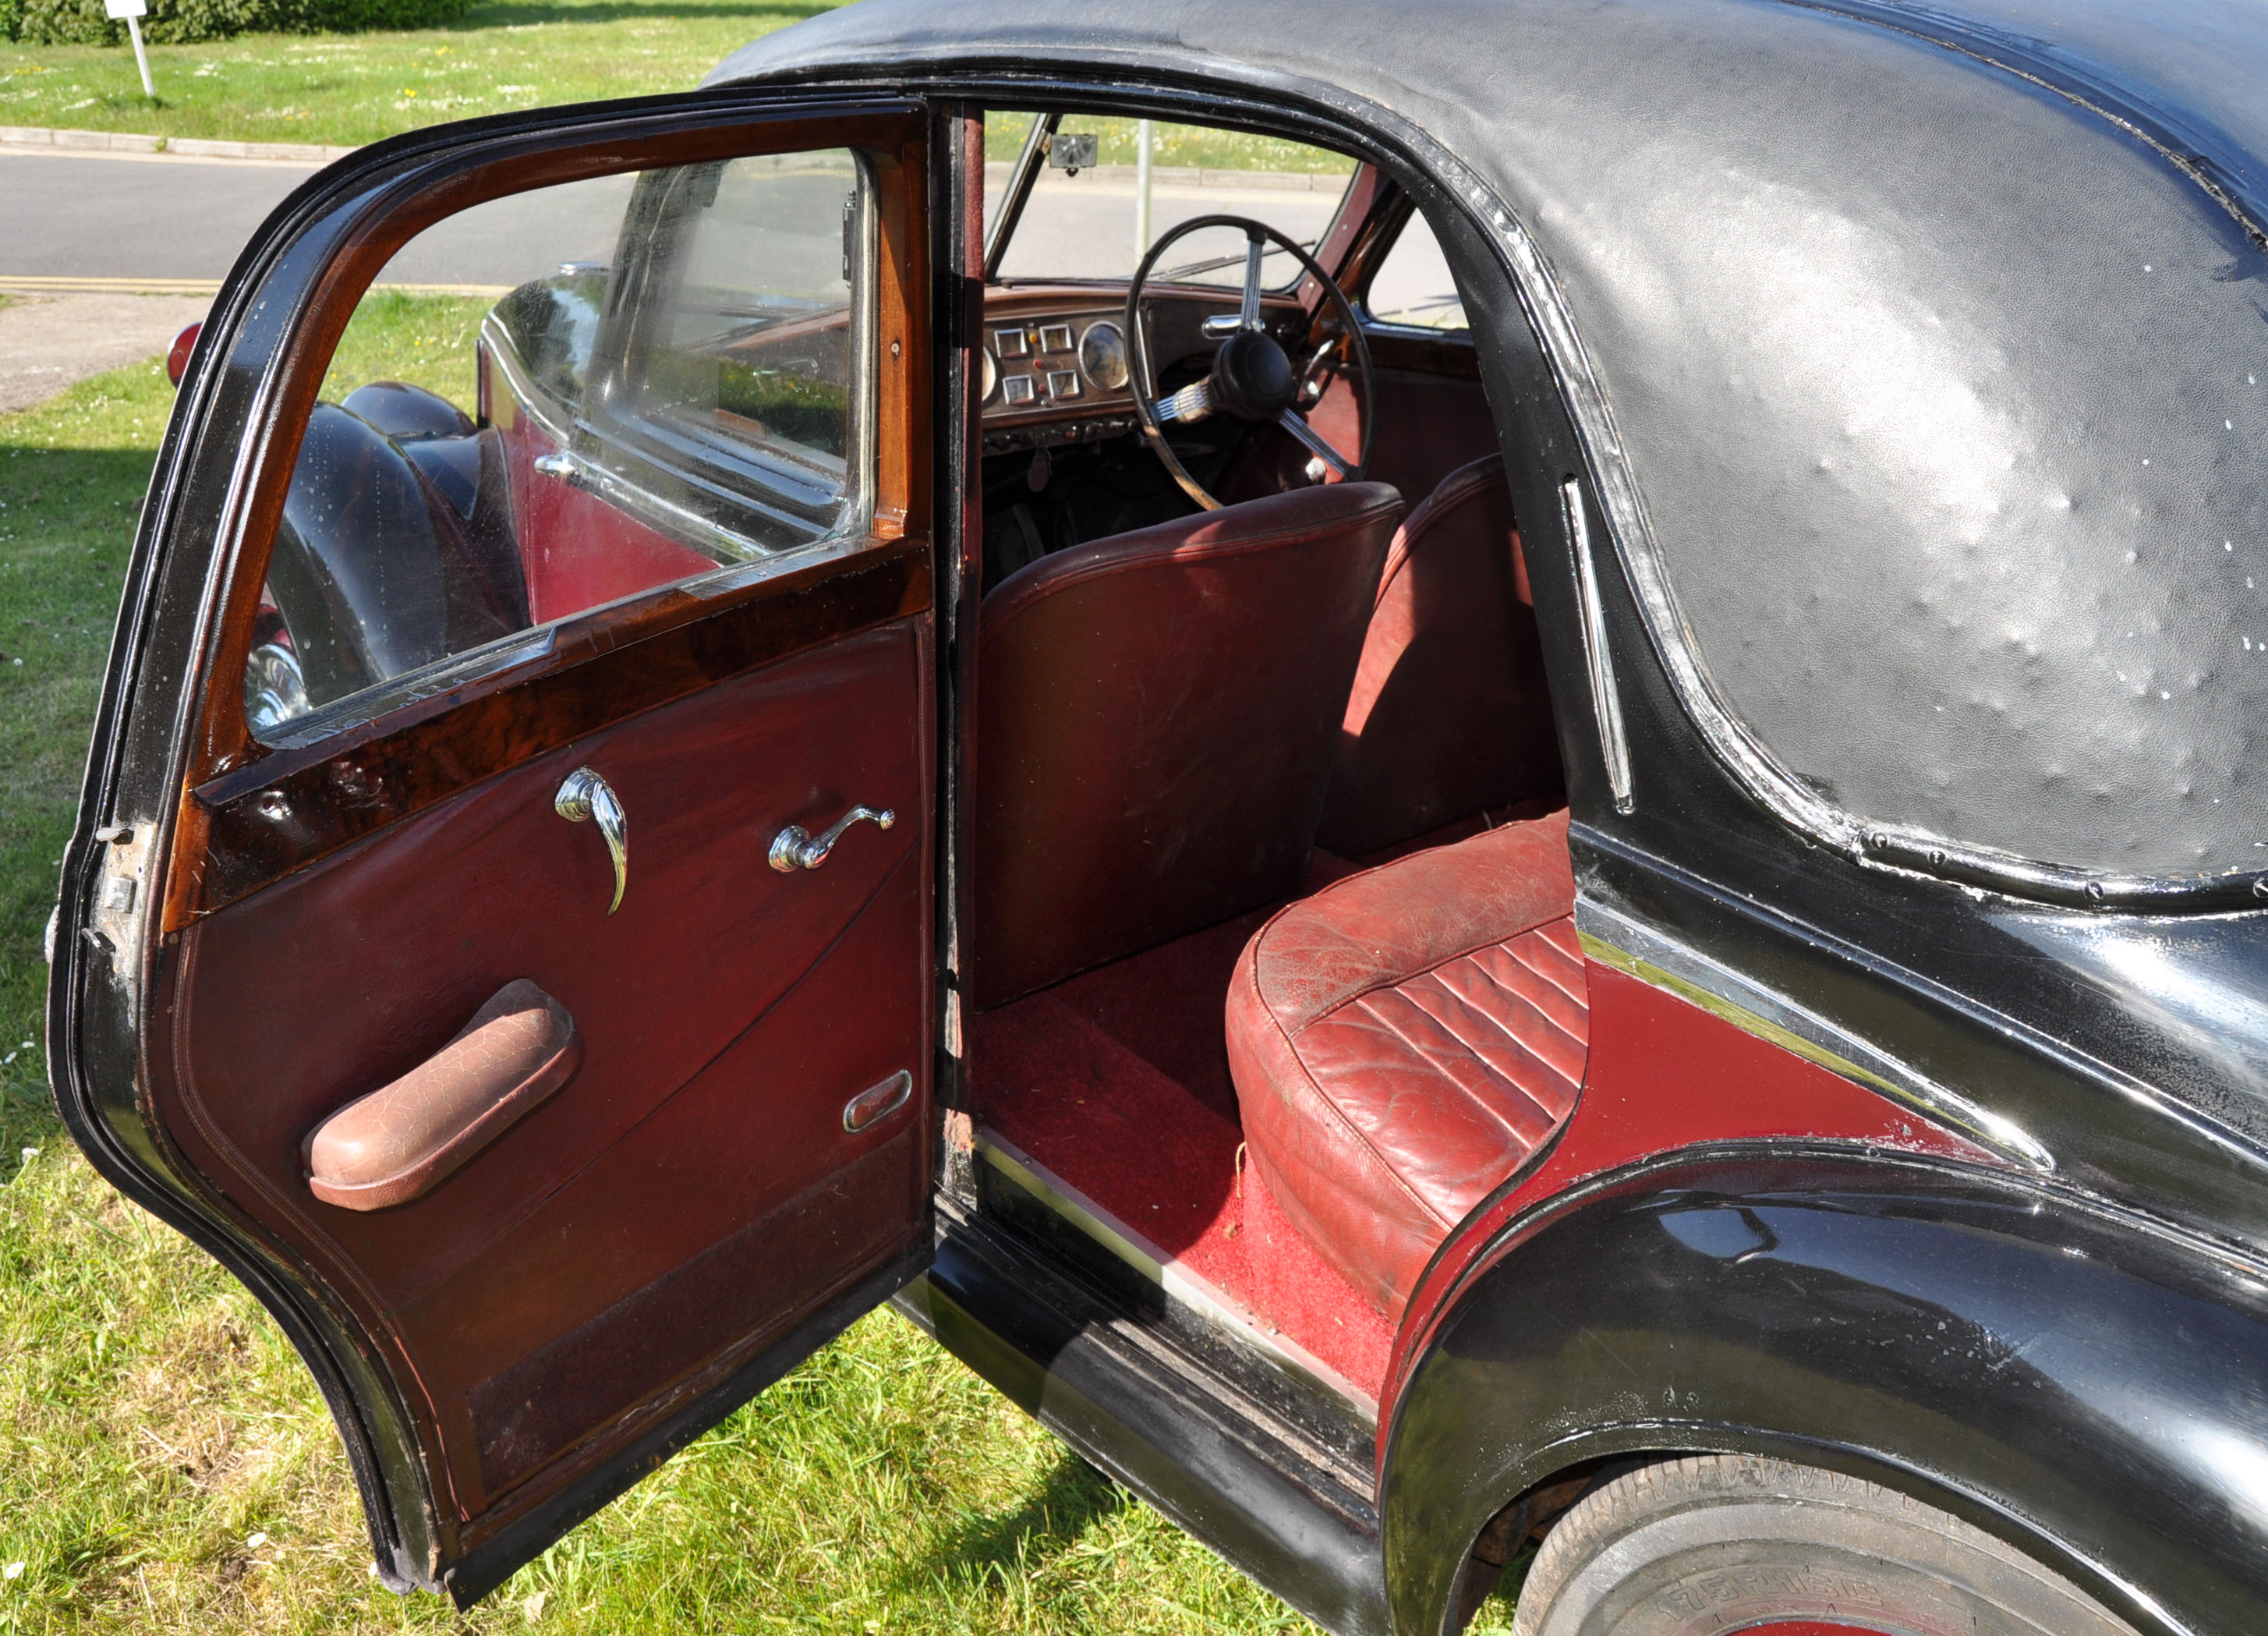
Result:
{"label": "strip of green grass across the road, beyond the far kerb", "polygon": [[547,102],[689,91],[758,34],[832,0],[474,0],[449,27],[152,45],[0,41],[0,125],[261,143],[370,143]]}

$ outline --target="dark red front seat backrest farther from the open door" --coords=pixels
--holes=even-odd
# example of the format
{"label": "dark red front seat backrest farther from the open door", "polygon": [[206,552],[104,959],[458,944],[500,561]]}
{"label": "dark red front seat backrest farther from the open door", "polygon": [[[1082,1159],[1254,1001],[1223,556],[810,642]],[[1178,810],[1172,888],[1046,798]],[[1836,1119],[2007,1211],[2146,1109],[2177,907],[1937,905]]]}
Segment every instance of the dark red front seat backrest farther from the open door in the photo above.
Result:
{"label": "dark red front seat backrest farther from the open door", "polygon": [[1560,787],[1504,458],[1449,472],[1379,579],[1318,844],[1340,858]]}

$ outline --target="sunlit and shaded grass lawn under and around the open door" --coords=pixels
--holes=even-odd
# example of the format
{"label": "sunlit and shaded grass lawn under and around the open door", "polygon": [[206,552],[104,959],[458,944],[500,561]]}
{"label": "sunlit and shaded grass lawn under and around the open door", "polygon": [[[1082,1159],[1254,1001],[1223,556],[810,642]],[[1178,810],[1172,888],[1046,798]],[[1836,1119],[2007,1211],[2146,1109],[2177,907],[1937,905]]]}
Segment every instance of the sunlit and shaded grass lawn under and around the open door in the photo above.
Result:
{"label": "sunlit and shaded grass lawn under and around the open door", "polygon": [[[365,304],[329,390],[460,393],[479,306]],[[370,1579],[306,1371],[77,1157],[34,1044],[41,926],[170,406],[152,361],[0,415],[0,1631],[1311,1631],[887,1312],[469,1616]],[[1495,1602],[1481,1627],[1508,1622]]]}

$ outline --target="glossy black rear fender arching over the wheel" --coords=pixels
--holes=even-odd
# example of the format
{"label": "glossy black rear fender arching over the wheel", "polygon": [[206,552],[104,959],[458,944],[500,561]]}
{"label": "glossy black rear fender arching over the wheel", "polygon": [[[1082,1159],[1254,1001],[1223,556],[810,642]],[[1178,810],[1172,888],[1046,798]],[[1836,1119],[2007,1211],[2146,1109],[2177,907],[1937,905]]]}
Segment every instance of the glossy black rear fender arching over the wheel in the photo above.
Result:
{"label": "glossy black rear fender arching over the wheel", "polygon": [[1490,1575],[1472,1548],[1517,1502],[1710,1452],[1910,1493],[2141,1631],[2268,1629],[2263,1271],[1907,1155],[1599,1178],[1499,1234],[1408,1371],[1379,1489],[1395,1629],[1456,1629]]}

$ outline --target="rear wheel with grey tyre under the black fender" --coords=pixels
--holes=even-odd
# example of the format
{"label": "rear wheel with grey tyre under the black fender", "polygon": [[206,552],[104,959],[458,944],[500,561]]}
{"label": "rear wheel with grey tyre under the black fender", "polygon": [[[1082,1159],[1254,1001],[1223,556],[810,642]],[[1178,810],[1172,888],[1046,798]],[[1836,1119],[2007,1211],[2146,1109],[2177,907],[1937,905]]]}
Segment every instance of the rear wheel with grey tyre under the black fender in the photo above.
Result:
{"label": "rear wheel with grey tyre under the black fender", "polygon": [[1545,1536],[1513,1636],[2134,1636],[2023,1552],[1857,1477],[1640,1466]]}

